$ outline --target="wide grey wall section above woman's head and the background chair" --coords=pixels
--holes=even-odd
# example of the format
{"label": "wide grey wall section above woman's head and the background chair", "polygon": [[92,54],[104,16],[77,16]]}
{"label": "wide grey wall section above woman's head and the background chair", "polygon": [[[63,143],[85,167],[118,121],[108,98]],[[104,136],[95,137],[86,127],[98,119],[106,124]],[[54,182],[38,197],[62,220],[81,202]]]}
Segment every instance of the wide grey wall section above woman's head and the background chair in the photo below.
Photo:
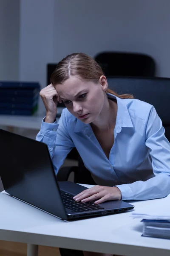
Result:
{"label": "wide grey wall section above woman's head and the background chair", "polygon": [[170,0],[55,1],[54,58],[72,52],[142,52],[170,77]]}

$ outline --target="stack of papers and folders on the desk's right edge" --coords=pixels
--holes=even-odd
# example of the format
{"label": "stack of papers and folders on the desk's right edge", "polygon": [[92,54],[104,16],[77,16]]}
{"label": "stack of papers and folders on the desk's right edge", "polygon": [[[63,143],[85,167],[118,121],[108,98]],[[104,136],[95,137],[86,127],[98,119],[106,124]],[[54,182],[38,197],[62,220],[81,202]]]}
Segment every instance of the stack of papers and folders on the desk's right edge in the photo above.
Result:
{"label": "stack of papers and folders on the desk's right edge", "polygon": [[[156,204],[152,205],[152,201]],[[142,236],[170,239],[170,195],[150,203],[145,209],[134,211],[131,217],[142,219]]]}

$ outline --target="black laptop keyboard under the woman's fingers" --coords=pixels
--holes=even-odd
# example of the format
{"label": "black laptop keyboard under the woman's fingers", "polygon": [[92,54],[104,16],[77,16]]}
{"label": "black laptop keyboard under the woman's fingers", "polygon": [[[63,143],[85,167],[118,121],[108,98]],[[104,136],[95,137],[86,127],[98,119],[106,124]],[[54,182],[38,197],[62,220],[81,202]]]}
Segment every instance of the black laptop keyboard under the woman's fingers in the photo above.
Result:
{"label": "black laptop keyboard under the woman's fingers", "polygon": [[99,209],[104,209],[103,207],[101,207],[99,204],[96,205],[93,202],[88,202],[88,203],[81,203],[81,202],[76,202],[73,199],[73,195],[64,192],[62,190],[60,190],[61,196],[62,196],[62,200],[64,203],[64,206],[68,209],[70,209],[71,211],[74,212],[86,212],[86,211],[92,211],[92,210],[99,210]]}

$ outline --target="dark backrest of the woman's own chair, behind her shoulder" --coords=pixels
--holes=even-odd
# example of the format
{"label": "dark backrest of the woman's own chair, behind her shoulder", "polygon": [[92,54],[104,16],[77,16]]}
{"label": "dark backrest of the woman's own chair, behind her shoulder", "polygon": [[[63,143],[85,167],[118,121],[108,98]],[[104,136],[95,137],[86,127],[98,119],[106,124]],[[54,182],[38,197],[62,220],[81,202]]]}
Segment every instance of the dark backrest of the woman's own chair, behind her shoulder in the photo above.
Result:
{"label": "dark backrest of the woman's own chair, behind her shoulder", "polygon": [[170,78],[110,77],[108,87],[116,93],[131,93],[156,108],[170,141]]}

